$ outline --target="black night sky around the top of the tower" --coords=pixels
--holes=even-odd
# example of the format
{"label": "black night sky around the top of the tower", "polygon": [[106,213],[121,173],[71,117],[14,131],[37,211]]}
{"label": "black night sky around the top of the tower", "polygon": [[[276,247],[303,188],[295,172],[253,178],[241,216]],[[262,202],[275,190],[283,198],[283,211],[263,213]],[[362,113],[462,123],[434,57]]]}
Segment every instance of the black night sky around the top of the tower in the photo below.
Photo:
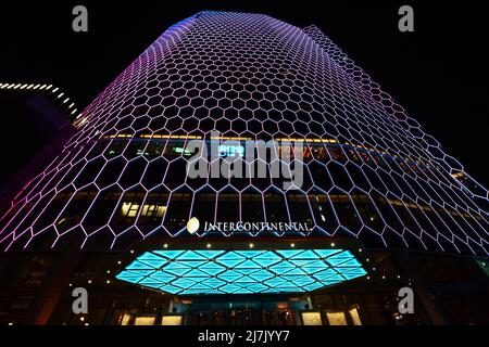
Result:
{"label": "black night sky around the top of the tower", "polygon": [[[300,27],[319,27],[488,187],[489,21],[484,2],[3,2],[0,82],[54,83],[86,106],[176,22],[203,10],[265,13]],[[76,4],[88,8],[86,34],[72,30]],[[398,30],[402,4],[414,8],[414,33]],[[15,117],[1,116],[1,129],[8,131]]]}

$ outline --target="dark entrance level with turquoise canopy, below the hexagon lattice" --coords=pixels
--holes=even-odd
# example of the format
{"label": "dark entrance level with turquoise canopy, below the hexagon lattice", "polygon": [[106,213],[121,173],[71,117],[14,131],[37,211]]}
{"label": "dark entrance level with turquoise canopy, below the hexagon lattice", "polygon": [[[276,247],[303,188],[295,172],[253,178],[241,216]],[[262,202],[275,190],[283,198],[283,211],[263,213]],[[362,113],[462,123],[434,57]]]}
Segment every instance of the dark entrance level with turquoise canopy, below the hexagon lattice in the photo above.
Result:
{"label": "dark entrance level with turquoise canopy, below the hexagon lattice", "polygon": [[[211,253],[214,252],[214,253]],[[305,252],[315,255],[343,252],[352,256],[355,270],[341,270],[341,264],[328,260],[325,270],[311,271]],[[148,254],[178,255],[164,258],[165,264],[148,260],[150,270],[137,261]],[[251,253],[253,252],[253,253]],[[302,254],[302,258],[298,255]],[[213,255],[202,260],[196,279],[186,286],[192,272],[183,273],[183,257]],[[217,258],[222,257],[222,258]],[[237,257],[251,255],[244,260]],[[271,259],[283,255],[283,259]],[[179,257],[179,258],[178,258]],[[210,258],[212,258],[210,257]],[[298,260],[294,260],[296,258]],[[220,260],[221,259],[221,260]],[[212,271],[209,265],[224,264],[224,270]],[[268,264],[260,259],[268,260]],[[319,259],[319,260],[321,260]],[[239,262],[239,261],[241,262]],[[256,269],[243,272],[246,261]],[[317,259],[316,259],[317,260]],[[341,260],[341,259],[340,259]],[[280,264],[297,265],[286,269]],[[340,261],[341,262],[341,261]],[[238,265],[236,265],[238,264]],[[343,264],[346,264],[343,261]],[[178,268],[178,265],[181,267]],[[233,265],[233,266],[229,266]],[[261,268],[259,268],[261,266]],[[278,266],[278,268],[277,268]],[[174,273],[183,274],[170,278]],[[248,266],[248,268],[253,266]],[[350,269],[350,267],[347,267]],[[278,269],[278,270],[277,270]],[[361,269],[361,270],[359,270]],[[209,278],[204,272],[209,270]],[[341,280],[324,281],[318,273],[335,270]],[[143,280],[137,278],[150,273]],[[146,272],[145,272],[146,271]],[[166,271],[166,272],[165,272]],[[190,271],[190,270],[189,270]],[[244,273],[233,278],[230,272]],[[264,272],[278,273],[267,278]],[[280,274],[286,271],[289,278]],[[342,272],[341,272],[342,271]],[[356,271],[355,275],[348,275]],[[359,272],[360,271],[360,272]],[[363,271],[363,272],[362,272]],[[258,274],[260,272],[260,275]],[[155,277],[155,274],[158,277]],[[208,272],[205,272],[208,273]],[[216,274],[217,273],[217,274]],[[302,278],[298,277],[302,274]],[[256,275],[253,275],[256,274]],[[226,278],[227,275],[227,278]],[[0,257],[0,324],[52,325],[404,325],[404,324],[488,324],[489,259],[403,249],[366,249],[351,242],[330,239],[255,241],[185,241],[141,243],[126,252],[25,252],[5,253]],[[313,277],[315,280],[308,280]],[[161,283],[155,280],[160,279]],[[134,279],[131,282],[130,280]],[[248,279],[248,280],[246,280]],[[286,280],[284,280],[286,279]],[[287,280],[289,279],[289,280]],[[319,280],[317,280],[319,279]],[[146,282],[145,282],[146,281]],[[149,281],[149,282],[148,282]],[[166,282],[165,282],[166,281]],[[205,282],[206,281],[206,282]],[[210,290],[209,283],[216,284]],[[299,284],[293,284],[293,283]],[[221,283],[221,282],[220,282]],[[311,286],[316,283],[317,287]],[[274,285],[276,285],[274,287]],[[296,285],[293,291],[289,292]],[[187,290],[188,287],[188,290]],[[191,292],[190,288],[195,288]],[[87,310],[75,312],[75,288],[86,290]],[[170,293],[165,288],[177,288]],[[199,290],[200,288],[200,290]],[[400,311],[412,290],[413,310]],[[200,291],[200,292],[199,292]],[[221,292],[220,292],[221,291]],[[228,291],[228,292],[226,292]],[[402,292],[401,293],[405,293]],[[404,300],[405,303],[405,300]],[[401,303],[402,304],[402,303]],[[406,307],[406,306],[404,306]]]}

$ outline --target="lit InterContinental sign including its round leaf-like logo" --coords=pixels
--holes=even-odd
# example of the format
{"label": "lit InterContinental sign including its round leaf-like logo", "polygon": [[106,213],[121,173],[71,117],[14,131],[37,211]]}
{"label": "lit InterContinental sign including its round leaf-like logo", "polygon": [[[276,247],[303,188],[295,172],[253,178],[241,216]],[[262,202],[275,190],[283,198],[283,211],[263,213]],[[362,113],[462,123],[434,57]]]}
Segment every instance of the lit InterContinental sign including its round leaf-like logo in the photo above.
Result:
{"label": "lit InterContinental sign including its round leaf-like logo", "polygon": [[[200,221],[192,217],[187,223],[187,230],[189,233],[195,233],[199,230]],[[267,232],[310,232],[311,226],[306,222],[248,222],[248,221],[218,221],[203,223],[203,231],[205,232],[253,232],[253,231],[267,231]]]}

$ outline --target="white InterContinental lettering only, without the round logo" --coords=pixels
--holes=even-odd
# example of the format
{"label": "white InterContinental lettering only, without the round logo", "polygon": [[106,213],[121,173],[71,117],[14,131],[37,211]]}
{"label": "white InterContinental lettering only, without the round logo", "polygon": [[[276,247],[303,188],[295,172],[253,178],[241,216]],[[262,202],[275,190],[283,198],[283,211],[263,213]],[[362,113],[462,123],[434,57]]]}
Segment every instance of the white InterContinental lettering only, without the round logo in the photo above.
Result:
{"label": "white InterContinental lettering only, without the round logo", "polygon": [[309,232],[312,229],[308,226],[306,222],[248,222],[248,221],[220,221],[215,223],[205,222],[204,223],[205,231],[243,231],[243,232],[252,232],[252,231],[292,231],[292,232]]}

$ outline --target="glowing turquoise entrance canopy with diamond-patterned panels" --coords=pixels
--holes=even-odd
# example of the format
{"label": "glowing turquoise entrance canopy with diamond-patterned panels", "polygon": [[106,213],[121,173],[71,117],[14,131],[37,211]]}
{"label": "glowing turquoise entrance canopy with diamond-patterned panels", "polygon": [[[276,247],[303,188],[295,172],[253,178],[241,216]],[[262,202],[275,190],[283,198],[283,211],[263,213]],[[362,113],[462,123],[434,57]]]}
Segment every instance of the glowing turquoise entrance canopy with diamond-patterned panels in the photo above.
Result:
{"label": "glowing turquoise entrance canopy with diamond-patterned panels", "polygon": [[350,250],[153,250],[116,279],[178,295],[304,293],[364,275]]}

